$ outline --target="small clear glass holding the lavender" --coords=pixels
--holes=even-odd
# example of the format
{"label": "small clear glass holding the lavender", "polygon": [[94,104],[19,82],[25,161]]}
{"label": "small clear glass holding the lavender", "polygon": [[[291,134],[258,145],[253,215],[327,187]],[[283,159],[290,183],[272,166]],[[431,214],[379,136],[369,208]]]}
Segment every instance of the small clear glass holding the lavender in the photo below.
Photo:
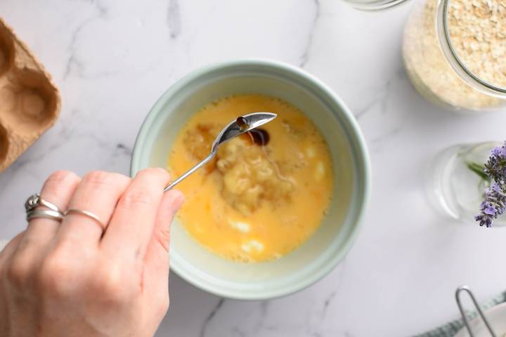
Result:
{"label": "small clear glass holding the lavender", "polygon": [[[479,213],[488,180],[479,175],[498,142],[454,145],[436,154],[427,168],[426,193],[429,203],[446,217],[473,223]],[[493,226],[506,226],[506,215]]]}

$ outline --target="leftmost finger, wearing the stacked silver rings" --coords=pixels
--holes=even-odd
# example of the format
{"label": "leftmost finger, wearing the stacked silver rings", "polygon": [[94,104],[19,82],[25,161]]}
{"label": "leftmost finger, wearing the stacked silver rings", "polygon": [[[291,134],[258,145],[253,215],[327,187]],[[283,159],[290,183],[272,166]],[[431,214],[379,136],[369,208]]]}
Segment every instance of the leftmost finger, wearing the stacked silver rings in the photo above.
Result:
{"label": "leftmost finger, wearing the stacked silver rings", "polygon": [[[56,171],[47,178],[40,192],[41,199],[55,204],[65,212],[81,178],[68,171]],[[44,209],[44,207],[40,207]],[[60,223],[57,220],[34,218],[30,220],[22,245],[28,242],[46,244],[56,234]]]}

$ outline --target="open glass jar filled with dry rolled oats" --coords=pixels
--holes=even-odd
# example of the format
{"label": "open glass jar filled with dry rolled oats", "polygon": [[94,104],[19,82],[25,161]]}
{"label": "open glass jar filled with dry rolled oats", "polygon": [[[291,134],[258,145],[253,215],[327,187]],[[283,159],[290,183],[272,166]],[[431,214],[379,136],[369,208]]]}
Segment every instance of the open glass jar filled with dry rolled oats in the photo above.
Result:
{"label": "open glass jar filled with dry rolled oats", "polygon": [[[505,48],[506,39],[504,44],[500,42],[499,47],[495,45],[497,38],[502,38],[500,33],[495,32],[495,28],[493,28],[494,39],[490,40],[488,32],[481,27],[486,26],[487,29],[492,27],[488,23],[493,25],[495,19],[484,17],[483,20],[488,21],[480,21],[476,26],[471,24],[467,26],[472,32],[476,32],[477,41],[472,41],[472,37],[469,37],[471,33],[463,29],[464,23],[458,20],[457,14],[463,13],[462,11],[466,11],[464,15],[475,13],[476,4],[487,6],[483,1],[424,0],[415,5],[406,22],[403,37],[406,72],[417,91],[436,105],[451,110],[475,111],[495,110],[506,105],[506,85],[503,85],[502,79],[500,86],[491,84],[490,79],[485,79],[491,72],[485,68],[490,62],[487,64],[486,60],[476,58],[476,55],[502,52],[501,48]],[[506,8],[503,7],[505,5],[500,4],[499,0],[491,1],[492,3],[497,1],[500,6],[498,16],[503,18],[506,13]],[[471,12],[467,6],[471,6],[473,11]],[[469,18],[469,15],[465,18]],[[474,21],[469,18],[469,21],[465,22]],[[466,39],[469,37],[469,41],[460,39],[464,36]],[[455,40],[454,45],[452,40]],[[492,43],[494,48],[489,48]],[[462,46],[466,46],[466,55],[463,54]],[[458,48],[460,52],[457,51]],[[466,65],[464,58],[472,62],[469,61]],[[504,59],[498,62],[500,67],[504,67],[502,63]],[[481,77],[476,74],[480,74]]]}

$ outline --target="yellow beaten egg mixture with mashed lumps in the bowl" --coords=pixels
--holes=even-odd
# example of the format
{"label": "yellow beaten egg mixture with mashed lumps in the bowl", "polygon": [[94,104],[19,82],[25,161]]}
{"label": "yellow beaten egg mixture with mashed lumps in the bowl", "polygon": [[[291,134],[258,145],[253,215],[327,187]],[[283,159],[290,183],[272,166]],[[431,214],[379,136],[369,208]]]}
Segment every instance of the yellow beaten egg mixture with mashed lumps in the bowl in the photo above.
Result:
{"label": "yellow beaten egg mixture with mashed lumps in the bowl", "polygon": [[[179,219],[197,242],[238,262],[273,260],[306,241],[332,197],[332,161],[316,126],[289,103],[266,95],[233,95],[209,103],[177,136],[172,176],[207,157],[219,131],[252,112],[274,112],[262,141],[242,135],[178,185]],[[258,140],[258,139],[257,139]],[[264,145],[259,145],[264,144]]]}

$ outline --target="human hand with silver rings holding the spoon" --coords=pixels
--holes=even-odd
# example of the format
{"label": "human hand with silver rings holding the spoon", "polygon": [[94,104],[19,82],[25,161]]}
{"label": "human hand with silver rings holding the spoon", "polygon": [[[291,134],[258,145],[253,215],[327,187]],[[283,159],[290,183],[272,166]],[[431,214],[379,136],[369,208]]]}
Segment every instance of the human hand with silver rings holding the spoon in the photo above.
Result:
{"label": "human hand with silver rings holding the spoon", "polygon": [[0,336],[153,336],[169,307],[169,238],[181,192],[169,174],[132,180],[58,171],[41,198],[69,213],[33,218],[0,253]]}

